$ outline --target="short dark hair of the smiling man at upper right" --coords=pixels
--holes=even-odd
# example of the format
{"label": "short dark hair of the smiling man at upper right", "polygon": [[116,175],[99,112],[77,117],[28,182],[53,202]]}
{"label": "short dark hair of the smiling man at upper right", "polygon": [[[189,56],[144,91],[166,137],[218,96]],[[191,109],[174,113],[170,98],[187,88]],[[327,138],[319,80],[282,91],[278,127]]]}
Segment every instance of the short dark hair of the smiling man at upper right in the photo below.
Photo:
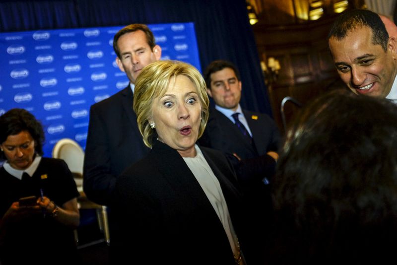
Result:
{"label": "short dark hair of the smiling man at upper right", "polygon": [[389,34],[385,24],[377,13],[370,10],[354,9],[344,11],[332,24],[328,39],[342,40],[349,32],[360,27],[368,27],[372,31],[372,43],[381,45],[387,51]]}

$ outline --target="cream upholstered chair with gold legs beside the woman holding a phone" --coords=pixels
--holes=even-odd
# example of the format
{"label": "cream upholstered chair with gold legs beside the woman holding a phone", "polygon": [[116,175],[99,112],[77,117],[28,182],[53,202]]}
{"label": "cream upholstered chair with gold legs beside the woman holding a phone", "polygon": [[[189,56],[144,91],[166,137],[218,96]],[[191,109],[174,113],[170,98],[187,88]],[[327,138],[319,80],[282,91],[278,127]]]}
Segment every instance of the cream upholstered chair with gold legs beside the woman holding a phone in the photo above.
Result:
{"label": "cream upholstered chair with gold legs beside the woman holding a phone", "polygon": [[[101,231],[105,235],[106,243],[110,244],[109,224],[106,206],[96,204],[85,196],[83,191],[83,162],[84,151],[81,146],[74,140],[63,138],[59,140],[53,148],[52,156],[54,158],[63,159],[69,170],[72,172],[74,181],[76,182],[77,190],[80,197],[77,198],[77,206],[79,209],[96,209],[98,224]],[[75,231],[76,241],[78,242],[78,235]]]}

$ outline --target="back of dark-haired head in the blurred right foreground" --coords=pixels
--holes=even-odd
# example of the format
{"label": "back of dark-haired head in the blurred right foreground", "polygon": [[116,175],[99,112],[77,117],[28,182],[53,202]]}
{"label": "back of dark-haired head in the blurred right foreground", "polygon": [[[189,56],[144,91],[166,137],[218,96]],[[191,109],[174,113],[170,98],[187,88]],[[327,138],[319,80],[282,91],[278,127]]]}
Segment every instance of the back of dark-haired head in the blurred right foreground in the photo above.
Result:
{"label": "back of dark-haired head in the blurred right foreground", "polygon": [[278,240],[292,256],[319,264],[390,257],[397,106],[345,90],[319,97],[287,131],[273,185]]}

